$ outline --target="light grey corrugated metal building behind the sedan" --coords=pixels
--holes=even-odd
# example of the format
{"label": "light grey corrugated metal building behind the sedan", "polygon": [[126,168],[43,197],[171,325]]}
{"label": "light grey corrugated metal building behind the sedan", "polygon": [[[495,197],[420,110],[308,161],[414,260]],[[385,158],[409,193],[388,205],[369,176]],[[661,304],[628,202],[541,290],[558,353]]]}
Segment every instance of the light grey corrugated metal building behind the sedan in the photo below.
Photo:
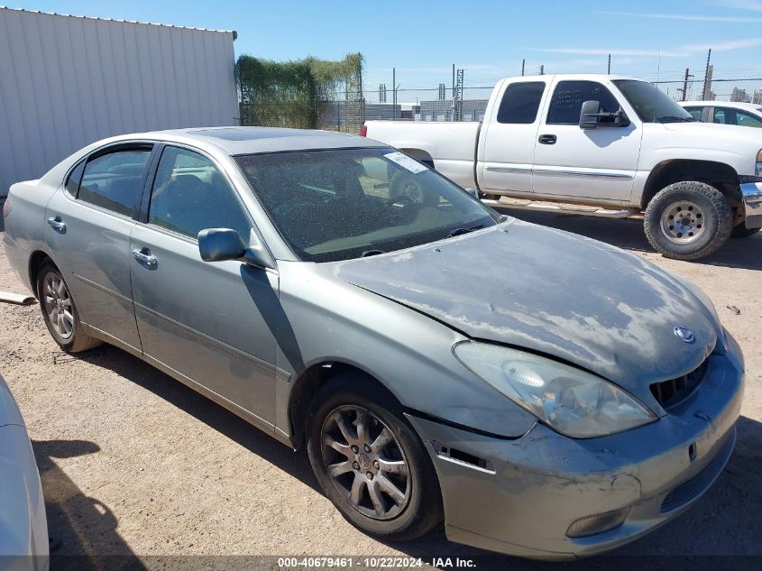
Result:
{"label": "light grey corrugated metal building behind the sedan", "polygon": [[107,136],[235,124],[234,40],[0,6],[0,196]]}

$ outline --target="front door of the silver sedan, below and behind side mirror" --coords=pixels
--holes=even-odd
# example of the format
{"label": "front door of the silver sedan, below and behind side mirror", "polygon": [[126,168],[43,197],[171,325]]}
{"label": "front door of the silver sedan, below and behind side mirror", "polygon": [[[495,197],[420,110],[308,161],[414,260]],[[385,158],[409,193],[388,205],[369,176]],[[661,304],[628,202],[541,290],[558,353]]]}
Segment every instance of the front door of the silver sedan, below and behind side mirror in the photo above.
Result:
{"label": "front door of the silver sedan, below and behind side mirror", "polygon": [[147,212],[130,244],[144,354],[274,424],[278,274],[198,253],[205,228],[249,240],[252,222],[233,186],[206,156],[165,146]]}

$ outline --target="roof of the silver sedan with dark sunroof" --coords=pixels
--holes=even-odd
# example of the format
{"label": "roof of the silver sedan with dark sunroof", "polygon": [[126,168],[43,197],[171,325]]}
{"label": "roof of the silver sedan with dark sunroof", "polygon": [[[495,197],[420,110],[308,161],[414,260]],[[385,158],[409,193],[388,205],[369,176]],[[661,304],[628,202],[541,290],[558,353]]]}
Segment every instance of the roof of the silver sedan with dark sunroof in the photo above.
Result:
{"label": "roof of the silver sedan with dark sunroof", "polygon": [[280,127],[194,127],[124,134],[110,141],[158,140],[186,143],[200,148],[215,147],[229,155],[260,152],[309,151],[385,147],[372,139],[333,131],[285,129]]}

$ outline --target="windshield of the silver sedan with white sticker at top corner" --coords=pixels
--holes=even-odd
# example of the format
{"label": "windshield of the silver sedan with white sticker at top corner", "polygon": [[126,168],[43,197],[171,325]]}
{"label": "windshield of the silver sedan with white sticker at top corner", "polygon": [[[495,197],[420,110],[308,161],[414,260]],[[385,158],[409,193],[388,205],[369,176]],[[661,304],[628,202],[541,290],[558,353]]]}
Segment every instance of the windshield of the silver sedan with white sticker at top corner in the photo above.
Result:
{"label": "windshield of the silver sedan with white sticker at top corner", "polygon": [[234,157],[301,260],[334,262],[493,226],[490,208],[390,148]]}

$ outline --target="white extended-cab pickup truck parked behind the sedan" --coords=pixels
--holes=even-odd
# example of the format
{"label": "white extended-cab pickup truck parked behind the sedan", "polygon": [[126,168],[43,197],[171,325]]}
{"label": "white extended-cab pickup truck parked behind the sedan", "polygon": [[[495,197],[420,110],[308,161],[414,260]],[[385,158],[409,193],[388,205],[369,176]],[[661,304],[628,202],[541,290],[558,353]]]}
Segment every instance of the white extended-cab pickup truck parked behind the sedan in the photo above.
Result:
{"label": "white extended-cab pickup truck parked behind the sedan", "polygon": [[762,226],[762,130],[695,122],[638,79],[505,78],[482,123],[369,121],[363,134],[493,206],[622,218],[645,210],[648,241],[681,260]]}

